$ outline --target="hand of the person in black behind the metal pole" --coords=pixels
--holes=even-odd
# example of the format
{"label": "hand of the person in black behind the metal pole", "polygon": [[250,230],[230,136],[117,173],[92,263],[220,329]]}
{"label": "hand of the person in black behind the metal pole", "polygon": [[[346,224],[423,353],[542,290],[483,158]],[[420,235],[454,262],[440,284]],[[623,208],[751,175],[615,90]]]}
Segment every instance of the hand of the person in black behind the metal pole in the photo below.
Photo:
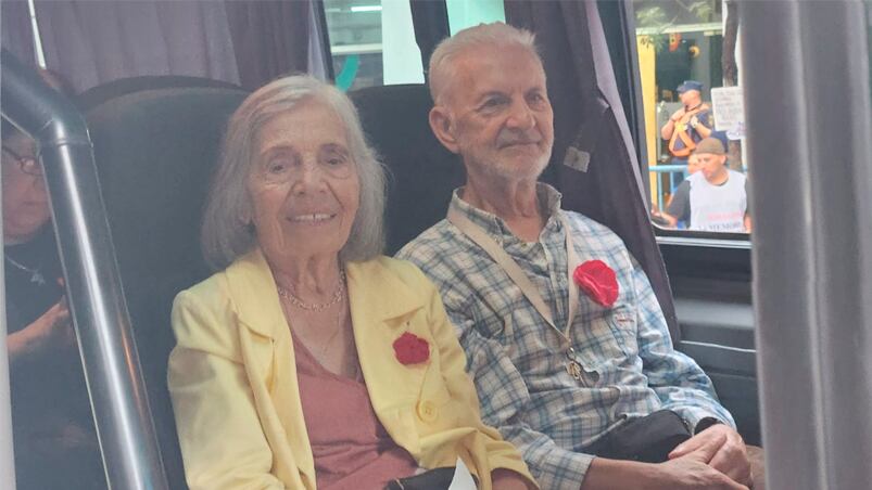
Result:
{"label": "hand of the person in black behind the metal pole", "polygon": [[7,338],[10,361],[34,352],[75,345],[66,298],[61,298],[41,317]]}

